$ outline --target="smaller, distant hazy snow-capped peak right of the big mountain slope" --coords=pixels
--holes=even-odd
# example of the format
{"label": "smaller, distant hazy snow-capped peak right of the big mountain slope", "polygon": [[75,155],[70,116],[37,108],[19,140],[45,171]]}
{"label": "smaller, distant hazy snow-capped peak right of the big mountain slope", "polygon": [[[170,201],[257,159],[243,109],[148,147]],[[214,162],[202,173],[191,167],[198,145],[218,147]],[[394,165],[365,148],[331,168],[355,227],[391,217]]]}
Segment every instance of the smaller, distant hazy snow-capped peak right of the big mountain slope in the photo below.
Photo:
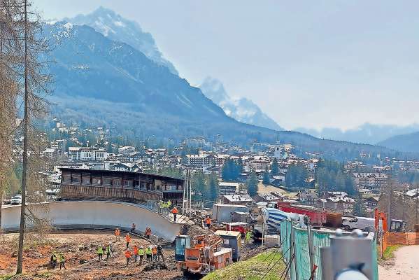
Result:
{"label": "smaller, distant hazy snow-capped peak right of the big mountain slope", "polygon": [[283,130],[251,100],[230,97],[220,80],[207,77],[200,88],[206,97],[225,111],[227,116],[239,120],[241,123],[267,127],[271,130]]}

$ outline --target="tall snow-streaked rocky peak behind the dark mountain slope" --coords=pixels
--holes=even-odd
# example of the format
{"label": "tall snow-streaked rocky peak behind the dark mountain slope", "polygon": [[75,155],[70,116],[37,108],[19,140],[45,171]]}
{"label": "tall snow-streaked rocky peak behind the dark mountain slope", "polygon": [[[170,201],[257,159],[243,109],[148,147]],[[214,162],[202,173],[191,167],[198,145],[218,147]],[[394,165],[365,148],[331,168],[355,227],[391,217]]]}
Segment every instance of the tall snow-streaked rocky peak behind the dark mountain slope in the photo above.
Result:
{"label": "tall snow-streaked rocky peak behind the dark mountain slope", "polygon": [[152,35],[143,31],[141,26],[132,20],[122,18],[108,8],[99,7],[87,15],[76,15],[74,18],[64,18],[73,25],[87,25],[94,28],[111,40],[127,43],[152,59],[159,65],[164,65],[171,73],[178,75],[175,66],[165,59],[159,51]]}

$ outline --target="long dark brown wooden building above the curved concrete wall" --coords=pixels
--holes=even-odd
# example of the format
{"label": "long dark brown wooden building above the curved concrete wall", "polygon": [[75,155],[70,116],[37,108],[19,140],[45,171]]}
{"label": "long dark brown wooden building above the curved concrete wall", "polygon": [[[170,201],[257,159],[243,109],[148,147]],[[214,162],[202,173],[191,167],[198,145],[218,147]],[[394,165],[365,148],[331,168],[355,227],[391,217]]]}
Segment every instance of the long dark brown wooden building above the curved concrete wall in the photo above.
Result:
{"label": "long dark brown wooden building above the curved concrete wall", "polygon": [[156,174],[62,168],[62,200],[182,202],[185,180]]}

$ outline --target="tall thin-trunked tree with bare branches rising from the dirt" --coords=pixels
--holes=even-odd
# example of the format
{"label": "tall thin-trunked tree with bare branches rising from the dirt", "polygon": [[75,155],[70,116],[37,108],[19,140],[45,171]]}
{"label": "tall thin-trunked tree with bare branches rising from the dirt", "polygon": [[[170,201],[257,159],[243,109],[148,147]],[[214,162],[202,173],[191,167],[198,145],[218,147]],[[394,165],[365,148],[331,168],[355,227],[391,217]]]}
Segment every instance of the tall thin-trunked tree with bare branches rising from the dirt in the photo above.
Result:
{"label": "tall thin-trunked tree with bare branches rising from the dirt", "polygon": [[48,61],[42,59],[47,57],[45,52],[48,52],[49,45],[42,36],[40,17],[33,12],[28,0],[0,1],[2,42],[8,47],[8,59],[2,59],[1,70],[5,76],[9,72],[12,73],[11,82],[16,85],[17,94],[20,94],[23,104],[22,205],[16,269],[16,273],[20,274],[22,273],[25,219],[27,216],[32,216],[32,221],[38,221],[31,215],[26,203],[30,200],[36,201],[36,194],[38,194],[35,191],[34,197],[29,197],[27,200],[29,182],[33,183],[31,186],[38,186],[41,182],[41,171],[38,170],[36,162],[38,162],[38,155],[41,154],[39,139],[42,137],[36,130],[34,120],[43,118],[48,106],[45,94],[49,92],[50,76],[45,73]]}

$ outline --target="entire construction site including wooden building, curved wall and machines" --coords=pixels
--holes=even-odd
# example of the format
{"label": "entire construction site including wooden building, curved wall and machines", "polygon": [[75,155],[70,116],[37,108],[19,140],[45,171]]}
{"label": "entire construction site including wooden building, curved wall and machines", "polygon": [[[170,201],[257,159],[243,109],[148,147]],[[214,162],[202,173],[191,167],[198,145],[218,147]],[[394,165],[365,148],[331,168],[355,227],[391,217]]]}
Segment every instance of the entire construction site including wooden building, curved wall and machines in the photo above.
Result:
{"label": "entire construction site including wooden building, curved wall and machines", "polygon": [[[88,185],[95,179],[134,183]],[[378,279],[388,248],[419,240],[378,209],[374,218],[346,219],[283,201],[204,207],[189,183],[164,176],[65,169],[62,186],[59,200],[25,207],[36,220],[26,226],[20,276],[20,205],[2,208],[1,280],[332,280],[359,262],[355,273]]]}

